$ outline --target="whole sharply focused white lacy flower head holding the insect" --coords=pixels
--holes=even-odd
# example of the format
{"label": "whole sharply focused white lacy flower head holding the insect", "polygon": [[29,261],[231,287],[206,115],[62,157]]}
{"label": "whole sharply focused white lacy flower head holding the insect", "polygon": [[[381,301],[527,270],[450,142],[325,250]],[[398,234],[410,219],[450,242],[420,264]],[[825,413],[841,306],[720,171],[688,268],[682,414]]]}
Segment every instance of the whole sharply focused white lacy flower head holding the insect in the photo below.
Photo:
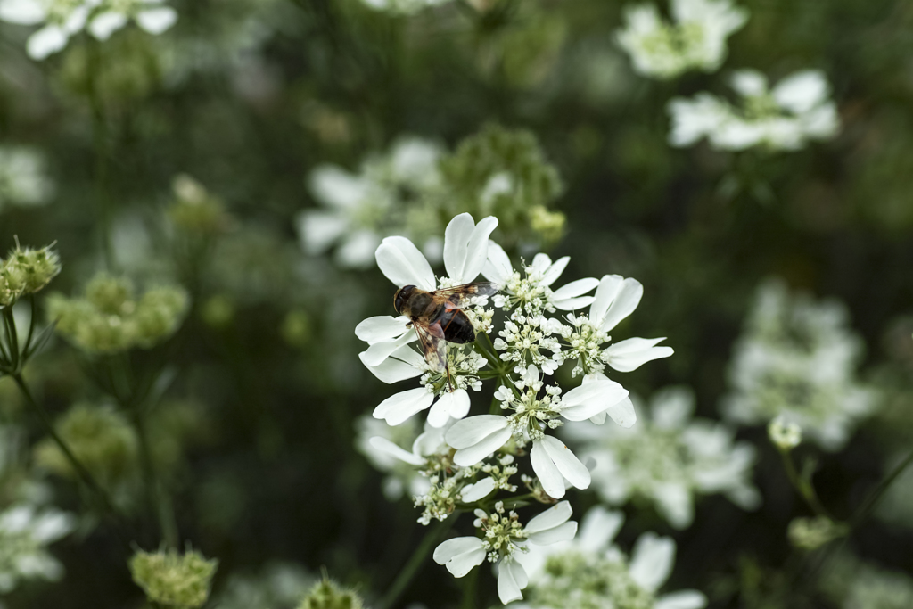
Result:
{"label": "whole sharply focused white lacy flower head holding the insect", "polygon": [[[527,541],[554,541],[558,533],[533,533],[561,527],[571,515],[570,505],[563,502],[556,506],[557,512],[546,512],[561,514],[560,519],[552,522],[557,517],[541,516],[537,518],[543,520],[533,519],[523,526],[515,509],[506,507],[516,501],[498,499],[501,490],[516,492],[518,485],[511,478],[519,472],[518,459],[530,456],[535,478],[524,476],[521,481],[532,499],[553,503],[564,496],[567,484],[589,487],[589,470],[553,430],[588,419],[601,425],[606,416],[619,425],[634,425],[636,415],[628,393],[604,374],[606,368],[635,370],[672,350],[657,346],[662,339],[613,342],[609,336],[641,299],[643,287],[635,279],[606,275],[557,288],[569,258],[552,262],[538,254],[530,265],[515,270],[504,250],[488,238],[496,226],[495,217],[476,224],[471,215],[457,215],[445,232],[446,276],[436,277],[427,259],[404,237],[387,237],[376,251],[378,266],[398,288],[415,286],[432,292],[471,283],[479,274],[489,280],[484,285],[497,286],[496,293],[489,290],[488,298],[460,301],[459,310],[474,325],[476,341],[462,345],[438,341],[436,346],[426,336],[423,356],[412,344],[419,331],[433,331],[435,321],[406,316],[373,317],[362,321],[355,333],[368,343],[360,358],[377,378],[385,383],[419,380],[418,387],[383,400],[374,417],[396,426],[428,411],[425,433],[415,440],[411,452],[388,439],[389,434],[369,443],[428,478],[428,489],[415,498],[416,506],[424,509],[420,522],[445,520],[457,510],[476,511],[483,538],[448,541],[436,552],[436,560],[448,564],[457,576],[486,557],[497,562],[498,590],[507,603],[519,598],[527,585],[515,555],[529,551]],[[593,289],[594,295],[588,296]],[[589,307],[586,314],[571,312],[585,307]],[[554,316],[558,310],[568,311],[564,321],[570,325]],[[422,323],[428,330],[415,328]],[[497,339],[492,341],[489,334],[495,333]],[[443,359],[439,359],[441,353]],[[554,374],[565,362],[574,362],[575,375],[582,377],[569,390]],[[496,382],[489,413],[467,416],[471,406],[467,390],[479,392],[487,380]],[[561,535],[570,530],[562,527]]]}

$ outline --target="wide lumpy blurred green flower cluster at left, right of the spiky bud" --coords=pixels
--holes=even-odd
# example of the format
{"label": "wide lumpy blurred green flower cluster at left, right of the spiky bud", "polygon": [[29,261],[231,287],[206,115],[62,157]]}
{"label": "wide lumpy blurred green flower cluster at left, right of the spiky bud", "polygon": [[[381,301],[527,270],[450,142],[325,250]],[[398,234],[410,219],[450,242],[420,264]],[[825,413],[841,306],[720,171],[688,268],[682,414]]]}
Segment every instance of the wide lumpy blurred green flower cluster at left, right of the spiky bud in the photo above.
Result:
{"label": "wide lumpy blurred green flower cluster at left, right of the spiky bud", "polygon": [[47,309],[58,332],[79,349],[113,353],[148,349],[171,336],[184,320],[187,295],[183,289],[162,286],[134,299],[129,280],[101,273],[89,281],[84,296],[55,294]]}

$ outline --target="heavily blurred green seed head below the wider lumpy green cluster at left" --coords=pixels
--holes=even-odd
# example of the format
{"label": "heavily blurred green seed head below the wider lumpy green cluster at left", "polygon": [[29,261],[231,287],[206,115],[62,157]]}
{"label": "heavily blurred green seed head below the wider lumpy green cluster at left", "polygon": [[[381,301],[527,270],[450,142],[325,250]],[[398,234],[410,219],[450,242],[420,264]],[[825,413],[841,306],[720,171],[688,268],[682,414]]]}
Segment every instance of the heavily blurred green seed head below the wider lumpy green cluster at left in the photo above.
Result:
{"label": "heavily blurred green seed head below the wider lumpy green cluster at left", "polygon": [[[137,439],[130,423],[110,406],[75,404],[54,425],[69,449],[105,486],[129,478],[137,463]],[[39,466],[78,478],[58,445],[46,438],[35,447]]]}

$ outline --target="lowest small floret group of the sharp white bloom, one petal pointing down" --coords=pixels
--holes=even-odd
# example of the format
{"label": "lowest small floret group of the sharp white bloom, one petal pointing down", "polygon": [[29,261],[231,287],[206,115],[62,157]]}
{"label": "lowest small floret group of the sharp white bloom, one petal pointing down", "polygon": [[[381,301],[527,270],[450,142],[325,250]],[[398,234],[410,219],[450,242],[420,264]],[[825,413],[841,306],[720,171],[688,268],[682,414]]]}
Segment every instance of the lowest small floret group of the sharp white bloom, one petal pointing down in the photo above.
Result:
{"label": "lowest small floret group of the sharp white bloom, one petal pointing down", "polygon": [[454,577],[463,577],[486,559],[496,564],[498,598],[503,604],[523,598],[521,591],[530,583],[520,557],[535,555],[540,546],[570,541],[577,532],[577,523],[569,520],[572,509],[567,501],[546,509],[525,527],[515,511],[505,513],[501,502],[495,504],[491,513],[481,509],[475,513],[474,524],[482,537],[447,540],[437,546],[434,559]]}

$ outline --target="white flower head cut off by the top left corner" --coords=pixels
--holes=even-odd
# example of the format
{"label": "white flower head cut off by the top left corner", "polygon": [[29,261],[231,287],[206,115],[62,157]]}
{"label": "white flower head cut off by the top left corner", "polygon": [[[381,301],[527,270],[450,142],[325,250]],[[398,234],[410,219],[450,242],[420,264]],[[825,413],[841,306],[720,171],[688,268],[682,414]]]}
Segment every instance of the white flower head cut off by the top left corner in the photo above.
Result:
{"label": "white flower head cut off by the top left corner", "polygon": [[44,59],[67,46],[70,37],[88,30],[107,40],[133,19],[158,35],[174,25],[177,13],[164,0],[0,0],[0,20],[23,26],[43,25],[28,38],[26,50]]}

